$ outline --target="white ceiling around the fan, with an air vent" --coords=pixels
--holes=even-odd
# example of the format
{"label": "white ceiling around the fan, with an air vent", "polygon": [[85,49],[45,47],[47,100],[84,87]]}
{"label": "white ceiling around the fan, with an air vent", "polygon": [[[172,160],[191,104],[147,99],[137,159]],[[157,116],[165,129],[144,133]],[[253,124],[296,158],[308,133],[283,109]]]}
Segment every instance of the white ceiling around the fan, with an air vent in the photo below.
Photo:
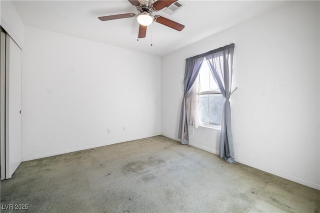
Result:
{"label": "white ceiling around the fan, with an air vent", "polygon": [[139,41],[134,17],[109,21],[97,18],[129,12],[136,14],[135,7],[127,0],[13,0],[12,3],[25,25],[162,56],[286,2],[179,1],[185,5],[172,15],[163,11],[152,14],[179,22],[185,28],[179,32],[153,22],[147,28],[146,37]]}

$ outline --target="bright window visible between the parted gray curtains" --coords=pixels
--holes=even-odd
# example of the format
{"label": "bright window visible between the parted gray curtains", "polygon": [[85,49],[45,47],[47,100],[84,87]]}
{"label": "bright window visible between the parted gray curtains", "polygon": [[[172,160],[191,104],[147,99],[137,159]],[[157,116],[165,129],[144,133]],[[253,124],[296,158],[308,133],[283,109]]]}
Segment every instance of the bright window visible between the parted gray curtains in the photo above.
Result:
{"label": "bright window visible between the parted gray curtains", "polygon": [[199,108],[202,124],[221,125],[224,97],[216,84],[206,59],[199,74]]}

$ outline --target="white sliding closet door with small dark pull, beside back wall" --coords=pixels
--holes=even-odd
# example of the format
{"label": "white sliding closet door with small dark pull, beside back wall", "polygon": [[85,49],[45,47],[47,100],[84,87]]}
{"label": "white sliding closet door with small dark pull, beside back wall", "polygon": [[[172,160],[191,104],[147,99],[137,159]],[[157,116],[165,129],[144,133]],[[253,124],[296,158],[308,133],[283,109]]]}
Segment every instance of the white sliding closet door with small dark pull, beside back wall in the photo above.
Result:
{"label": "white sliding closet door with small dark pull, beside back wall", "polygon": [[21,69],[22,50],[6,34],[5,63],[5,178],[11,178],[22,160]]}

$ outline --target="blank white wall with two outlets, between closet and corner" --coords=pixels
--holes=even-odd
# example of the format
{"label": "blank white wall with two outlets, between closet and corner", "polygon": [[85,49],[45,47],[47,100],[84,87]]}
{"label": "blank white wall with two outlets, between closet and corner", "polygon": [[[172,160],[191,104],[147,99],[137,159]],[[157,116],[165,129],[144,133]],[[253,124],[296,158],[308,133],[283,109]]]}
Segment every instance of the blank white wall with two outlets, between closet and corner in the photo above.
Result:
{"label": "blank white wall with two outlets, between closet and corner", "polygon": [[160,57],[24,32],[23,161],[160,134]]}

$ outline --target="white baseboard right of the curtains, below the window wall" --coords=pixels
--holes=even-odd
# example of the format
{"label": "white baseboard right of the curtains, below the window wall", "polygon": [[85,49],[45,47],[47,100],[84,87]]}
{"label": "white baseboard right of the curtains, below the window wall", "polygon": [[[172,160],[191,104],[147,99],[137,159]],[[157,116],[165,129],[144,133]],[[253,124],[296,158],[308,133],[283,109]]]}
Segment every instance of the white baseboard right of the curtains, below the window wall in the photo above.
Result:
{"label": "white baseboard right of the curtains, below the window wall", "polygon": [[316,190],[320,190],[320,185],[318,183],[306,181],[306,180],[303,180],[303,179],[301,179],[299,177],[296,177],[294,175],[291,175],[291,174],[288,174],[288,173],[285,173],[285,172],[281,172],[281,171],[278,171],[278,170],[275,170],[275,169],[272,169],[272,168],[269,168],[269,167],[265,167],[263,165],[259,165],[259,164],[256,164],[254,162],[246,161],[246,160],[241,159],[241,158],[236,158],[235,161],[239,162],[241,164],[247,165],[249,167],[253,167],[255,169],[262,170],[264,172],[270,173],[272,175],[287,179],[289,181],[293,181],[295,183],[298,183],[298,184],[301,184],[301,185],[304,185],[304,186],[307,186],[307,187],[310,187],[310,188],[313,188],[313,189],[316,189]]}

